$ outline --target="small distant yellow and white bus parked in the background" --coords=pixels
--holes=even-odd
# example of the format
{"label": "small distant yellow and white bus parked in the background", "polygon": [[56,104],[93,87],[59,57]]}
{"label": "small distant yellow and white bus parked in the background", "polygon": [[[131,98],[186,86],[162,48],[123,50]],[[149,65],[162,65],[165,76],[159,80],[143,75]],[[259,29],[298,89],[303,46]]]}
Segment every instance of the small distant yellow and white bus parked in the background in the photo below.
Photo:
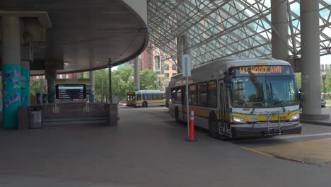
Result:
{"label": "small distant yellow and white bus parked in the background", "polygon": [[127,92],[127,106],[165,106],[165,91],[140,90]]}

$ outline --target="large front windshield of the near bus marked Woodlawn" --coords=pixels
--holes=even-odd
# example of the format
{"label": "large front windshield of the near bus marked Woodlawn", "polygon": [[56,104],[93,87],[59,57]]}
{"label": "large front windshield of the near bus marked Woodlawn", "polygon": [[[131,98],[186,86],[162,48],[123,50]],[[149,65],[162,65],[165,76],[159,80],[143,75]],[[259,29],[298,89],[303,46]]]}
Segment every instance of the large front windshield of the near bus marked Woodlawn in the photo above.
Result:
{"label": "large front windshield of the near bus marked Woodlawn", "polygon": [[269,108],[298,104],[294,76],[237,77],[233,79],[231,105],[239,108]]}

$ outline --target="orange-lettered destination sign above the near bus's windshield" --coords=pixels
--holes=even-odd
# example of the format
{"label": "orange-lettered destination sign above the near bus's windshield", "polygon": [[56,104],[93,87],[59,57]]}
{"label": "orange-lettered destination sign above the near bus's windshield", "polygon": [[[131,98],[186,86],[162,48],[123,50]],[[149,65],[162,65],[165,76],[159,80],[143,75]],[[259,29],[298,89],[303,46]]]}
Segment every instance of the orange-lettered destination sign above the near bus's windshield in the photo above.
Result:
{"label": "orange-lettered destination sign above the near bus's windshield", "polygon": [[254,75],[293,75],[293,69],[290,66],[247,66],[233,67],[231,69],[233,76],[242,77]]}

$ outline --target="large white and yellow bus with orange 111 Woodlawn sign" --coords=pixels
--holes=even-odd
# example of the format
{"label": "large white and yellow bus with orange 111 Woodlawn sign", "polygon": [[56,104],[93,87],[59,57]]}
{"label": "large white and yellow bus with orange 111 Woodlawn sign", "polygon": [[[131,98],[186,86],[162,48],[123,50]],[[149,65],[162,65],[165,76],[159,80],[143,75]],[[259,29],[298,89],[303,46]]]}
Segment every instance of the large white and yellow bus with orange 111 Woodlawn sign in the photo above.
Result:
{"label": "large white and yellow bus with orange 111 Woodlawn sign", "polygon": [[[186,121],[186,80],[169,83],[170,115]],[[212,137],[260,137],[301,133],[298,91],[289,62],[221,59],[192,69],[189,105],[195,125]]]}

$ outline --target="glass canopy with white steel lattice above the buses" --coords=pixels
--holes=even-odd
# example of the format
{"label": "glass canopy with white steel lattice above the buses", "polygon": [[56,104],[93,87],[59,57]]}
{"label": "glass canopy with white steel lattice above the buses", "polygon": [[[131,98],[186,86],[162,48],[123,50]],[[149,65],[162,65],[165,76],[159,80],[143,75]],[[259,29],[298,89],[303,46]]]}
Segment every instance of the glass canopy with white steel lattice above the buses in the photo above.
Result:
{"label": "glass canopy with white steel lattice above the buses", "polygon": [[[289,56],[301,56],[300,4],[288,0]],[[320,0],[320,55],[331,50],[331,1]],[[270,0],[149,0],[149,33],[156,47],[177,57],[177,37],[187,34],[195,67],[221,57],[272,54]]]}

